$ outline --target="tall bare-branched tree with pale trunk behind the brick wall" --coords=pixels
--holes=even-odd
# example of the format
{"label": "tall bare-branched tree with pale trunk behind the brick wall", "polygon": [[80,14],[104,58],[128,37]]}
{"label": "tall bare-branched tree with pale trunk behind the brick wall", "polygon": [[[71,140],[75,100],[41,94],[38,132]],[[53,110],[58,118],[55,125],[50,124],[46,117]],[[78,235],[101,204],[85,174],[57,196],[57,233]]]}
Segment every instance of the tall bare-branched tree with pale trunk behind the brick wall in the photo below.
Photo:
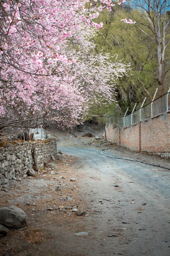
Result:
{"label": "tall bare-branched tree with pale trunk behind the brick wall", "polygon": [[[169,72],[166,65],[166,50],[170,43],[170,1],[169,0],[132,0],[132,6],[141,11],[142,21],[135,20],[137,26],[157,46],[158,73],[157,82],[159,93],[163,95],[166,92],[164,84],[165,75]],[[150,33],[147,33],[149,28]]]}

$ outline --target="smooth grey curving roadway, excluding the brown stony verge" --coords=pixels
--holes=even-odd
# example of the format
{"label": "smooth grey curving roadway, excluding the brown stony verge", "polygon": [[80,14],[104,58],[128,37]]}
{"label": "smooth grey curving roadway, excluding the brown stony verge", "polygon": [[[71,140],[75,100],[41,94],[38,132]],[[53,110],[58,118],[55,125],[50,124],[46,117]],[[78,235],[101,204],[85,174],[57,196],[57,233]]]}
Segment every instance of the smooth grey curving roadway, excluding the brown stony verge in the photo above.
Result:
{"label": "smooth grey curving roadway, excluding the brown stony verge", "polygon": [[[136,161],[114,159],[116,151],[66,146],[79,157],[79,181],[89,218],[89,236],[77,238],[80,255],[170,255],[170,171]],[[132,153],[131,159],[132,159]],[[122,153],[122,157],[124,154]],[[155,165],[159,159],[148,156]]]}

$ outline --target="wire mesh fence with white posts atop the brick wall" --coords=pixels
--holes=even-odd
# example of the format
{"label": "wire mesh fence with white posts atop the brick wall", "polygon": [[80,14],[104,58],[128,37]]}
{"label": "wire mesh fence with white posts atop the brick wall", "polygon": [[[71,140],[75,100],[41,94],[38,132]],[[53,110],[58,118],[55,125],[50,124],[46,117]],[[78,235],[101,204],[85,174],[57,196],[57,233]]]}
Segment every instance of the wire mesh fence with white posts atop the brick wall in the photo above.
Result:
{"label": "wire mesh fence with white posts atop the brick wall", "polygon": [[[134,107],[135,110],[135,107]],[[149,104],[145,105],[145,107],[140,107],[139,110],[132,111],[131,114],[124,116],[121,115],[113,115],[112,117],[108,117],[106,124],[115,124],[120,127],[127,127],[129,125],[135,124],[137,122],[145,121],[150,117],[157,116],[164,112],[170,110],[170,90],[162,97],[159,97],[157,100],[152,100]]]}

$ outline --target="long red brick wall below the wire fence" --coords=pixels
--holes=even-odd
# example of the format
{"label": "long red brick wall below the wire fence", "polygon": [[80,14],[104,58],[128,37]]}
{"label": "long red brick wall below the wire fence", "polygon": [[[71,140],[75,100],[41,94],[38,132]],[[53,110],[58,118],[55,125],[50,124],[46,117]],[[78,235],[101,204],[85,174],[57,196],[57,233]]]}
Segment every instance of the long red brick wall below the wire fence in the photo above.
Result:
{"label": "long red brick wall below the wire fence", "polygon": [[135,151],[170,152],[170,112],[130,127],[106,127],[108,141]]}

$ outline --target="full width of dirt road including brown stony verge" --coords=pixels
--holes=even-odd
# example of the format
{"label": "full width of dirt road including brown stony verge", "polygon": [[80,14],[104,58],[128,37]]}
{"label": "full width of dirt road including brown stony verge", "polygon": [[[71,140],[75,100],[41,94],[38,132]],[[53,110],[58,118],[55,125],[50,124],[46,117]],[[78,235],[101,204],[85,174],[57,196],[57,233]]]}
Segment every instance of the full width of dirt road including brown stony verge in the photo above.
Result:
{"label": "full width of dirt road including brown stony verge", "polygon": [[60,138],[53,169],[12,184],[15,196],[3,194],[26,211],[29,225],[1,238],[1,255],[170,255],[169,161],[116,146],[106,157],[100,142]]}

